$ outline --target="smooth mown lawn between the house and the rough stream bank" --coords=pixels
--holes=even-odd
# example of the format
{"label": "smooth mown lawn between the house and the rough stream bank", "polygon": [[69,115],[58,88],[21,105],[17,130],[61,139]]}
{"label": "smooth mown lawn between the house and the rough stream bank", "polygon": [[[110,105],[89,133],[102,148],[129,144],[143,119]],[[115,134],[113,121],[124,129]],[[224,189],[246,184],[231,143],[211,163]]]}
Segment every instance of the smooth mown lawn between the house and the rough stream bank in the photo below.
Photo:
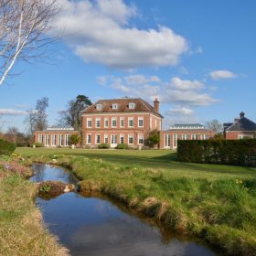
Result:
{"label": "smooth mown lawn between the house and the rough stream bank", "polygon": [[115,165],[139,165],[146,168],[165,169],[170,175],[219,178],[256,177],[256,168],[229,165],[204,165],[176,161],[176,152],[171,150],[88,150],[69,148],[17,148],[19,155],[81,155],[102,159]]}

